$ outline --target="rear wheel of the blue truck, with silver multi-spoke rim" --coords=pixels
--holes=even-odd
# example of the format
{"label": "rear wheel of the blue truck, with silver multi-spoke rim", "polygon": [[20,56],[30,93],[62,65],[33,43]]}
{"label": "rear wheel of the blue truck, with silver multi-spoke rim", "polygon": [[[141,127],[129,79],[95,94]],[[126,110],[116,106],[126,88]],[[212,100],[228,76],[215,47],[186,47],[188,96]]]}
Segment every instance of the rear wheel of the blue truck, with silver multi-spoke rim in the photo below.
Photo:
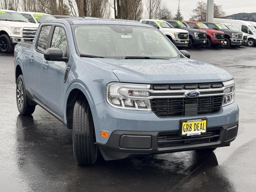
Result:
{"label": "rear wheel of the blue truck, with silver multi-spoke rim", "polygon": [[20,75],[16,82],[16,102],[20,114],[28,116],[34,113],[36,106],[29,104],[23,75]]}

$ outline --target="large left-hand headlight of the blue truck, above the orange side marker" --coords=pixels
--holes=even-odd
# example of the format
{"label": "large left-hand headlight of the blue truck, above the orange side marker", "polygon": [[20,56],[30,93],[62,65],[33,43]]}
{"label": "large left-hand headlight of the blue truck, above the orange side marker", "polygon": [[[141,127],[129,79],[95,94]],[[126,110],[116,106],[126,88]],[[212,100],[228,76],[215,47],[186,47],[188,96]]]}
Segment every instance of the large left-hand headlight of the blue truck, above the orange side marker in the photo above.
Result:
{"label": "large left-hand headlight of the blue truck, above the orange side marker", "polygon": [[150,111],[149,88],[147,84],[113,82],[106,86],[106,100],[115,108]]}

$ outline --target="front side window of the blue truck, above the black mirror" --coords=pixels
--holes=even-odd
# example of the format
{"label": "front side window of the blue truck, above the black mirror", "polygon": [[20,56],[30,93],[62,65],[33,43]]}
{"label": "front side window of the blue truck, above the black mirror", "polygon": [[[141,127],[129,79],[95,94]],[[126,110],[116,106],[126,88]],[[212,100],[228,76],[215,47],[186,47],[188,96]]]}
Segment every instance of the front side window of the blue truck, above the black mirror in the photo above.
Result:
{"label": "front side window of the blue truck, above the black mirror", "polygon": [[56,26],[52,36],[51,47],[60,48],[62,56],[66,57],[68,41],[64,28]]}

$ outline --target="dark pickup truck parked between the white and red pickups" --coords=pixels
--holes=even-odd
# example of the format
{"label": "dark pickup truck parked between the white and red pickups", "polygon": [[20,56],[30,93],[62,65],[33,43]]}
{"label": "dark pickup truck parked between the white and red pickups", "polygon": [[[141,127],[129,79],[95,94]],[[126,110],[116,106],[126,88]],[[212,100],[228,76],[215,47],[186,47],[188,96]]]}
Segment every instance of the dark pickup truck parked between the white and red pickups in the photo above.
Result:
{"label": "dark pickup truck parked between the white and red pickups", "polygon": [[175,28],[187,30],[189,33],[188,48],[194,46],[195,48],[201,48],[203,44],[207,42],[206,32],[199,29],[193,29],[183,21],[165,20]]}

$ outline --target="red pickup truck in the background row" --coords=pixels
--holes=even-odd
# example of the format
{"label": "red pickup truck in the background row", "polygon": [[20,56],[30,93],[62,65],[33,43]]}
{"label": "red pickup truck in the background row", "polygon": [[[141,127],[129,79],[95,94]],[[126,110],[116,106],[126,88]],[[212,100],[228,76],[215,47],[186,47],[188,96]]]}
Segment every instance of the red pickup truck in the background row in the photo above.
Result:
{"label": "red pickup truck in the background row", "polygon": [[224,32],[209,29],[208,26],[203,24],[202,22],[195,21],[185,21],[190,27],[194,29],[200,29],[206,31],[207,33],[207,42],[203,45],[204,48],[209,47],[219,47],[224,42]]}

